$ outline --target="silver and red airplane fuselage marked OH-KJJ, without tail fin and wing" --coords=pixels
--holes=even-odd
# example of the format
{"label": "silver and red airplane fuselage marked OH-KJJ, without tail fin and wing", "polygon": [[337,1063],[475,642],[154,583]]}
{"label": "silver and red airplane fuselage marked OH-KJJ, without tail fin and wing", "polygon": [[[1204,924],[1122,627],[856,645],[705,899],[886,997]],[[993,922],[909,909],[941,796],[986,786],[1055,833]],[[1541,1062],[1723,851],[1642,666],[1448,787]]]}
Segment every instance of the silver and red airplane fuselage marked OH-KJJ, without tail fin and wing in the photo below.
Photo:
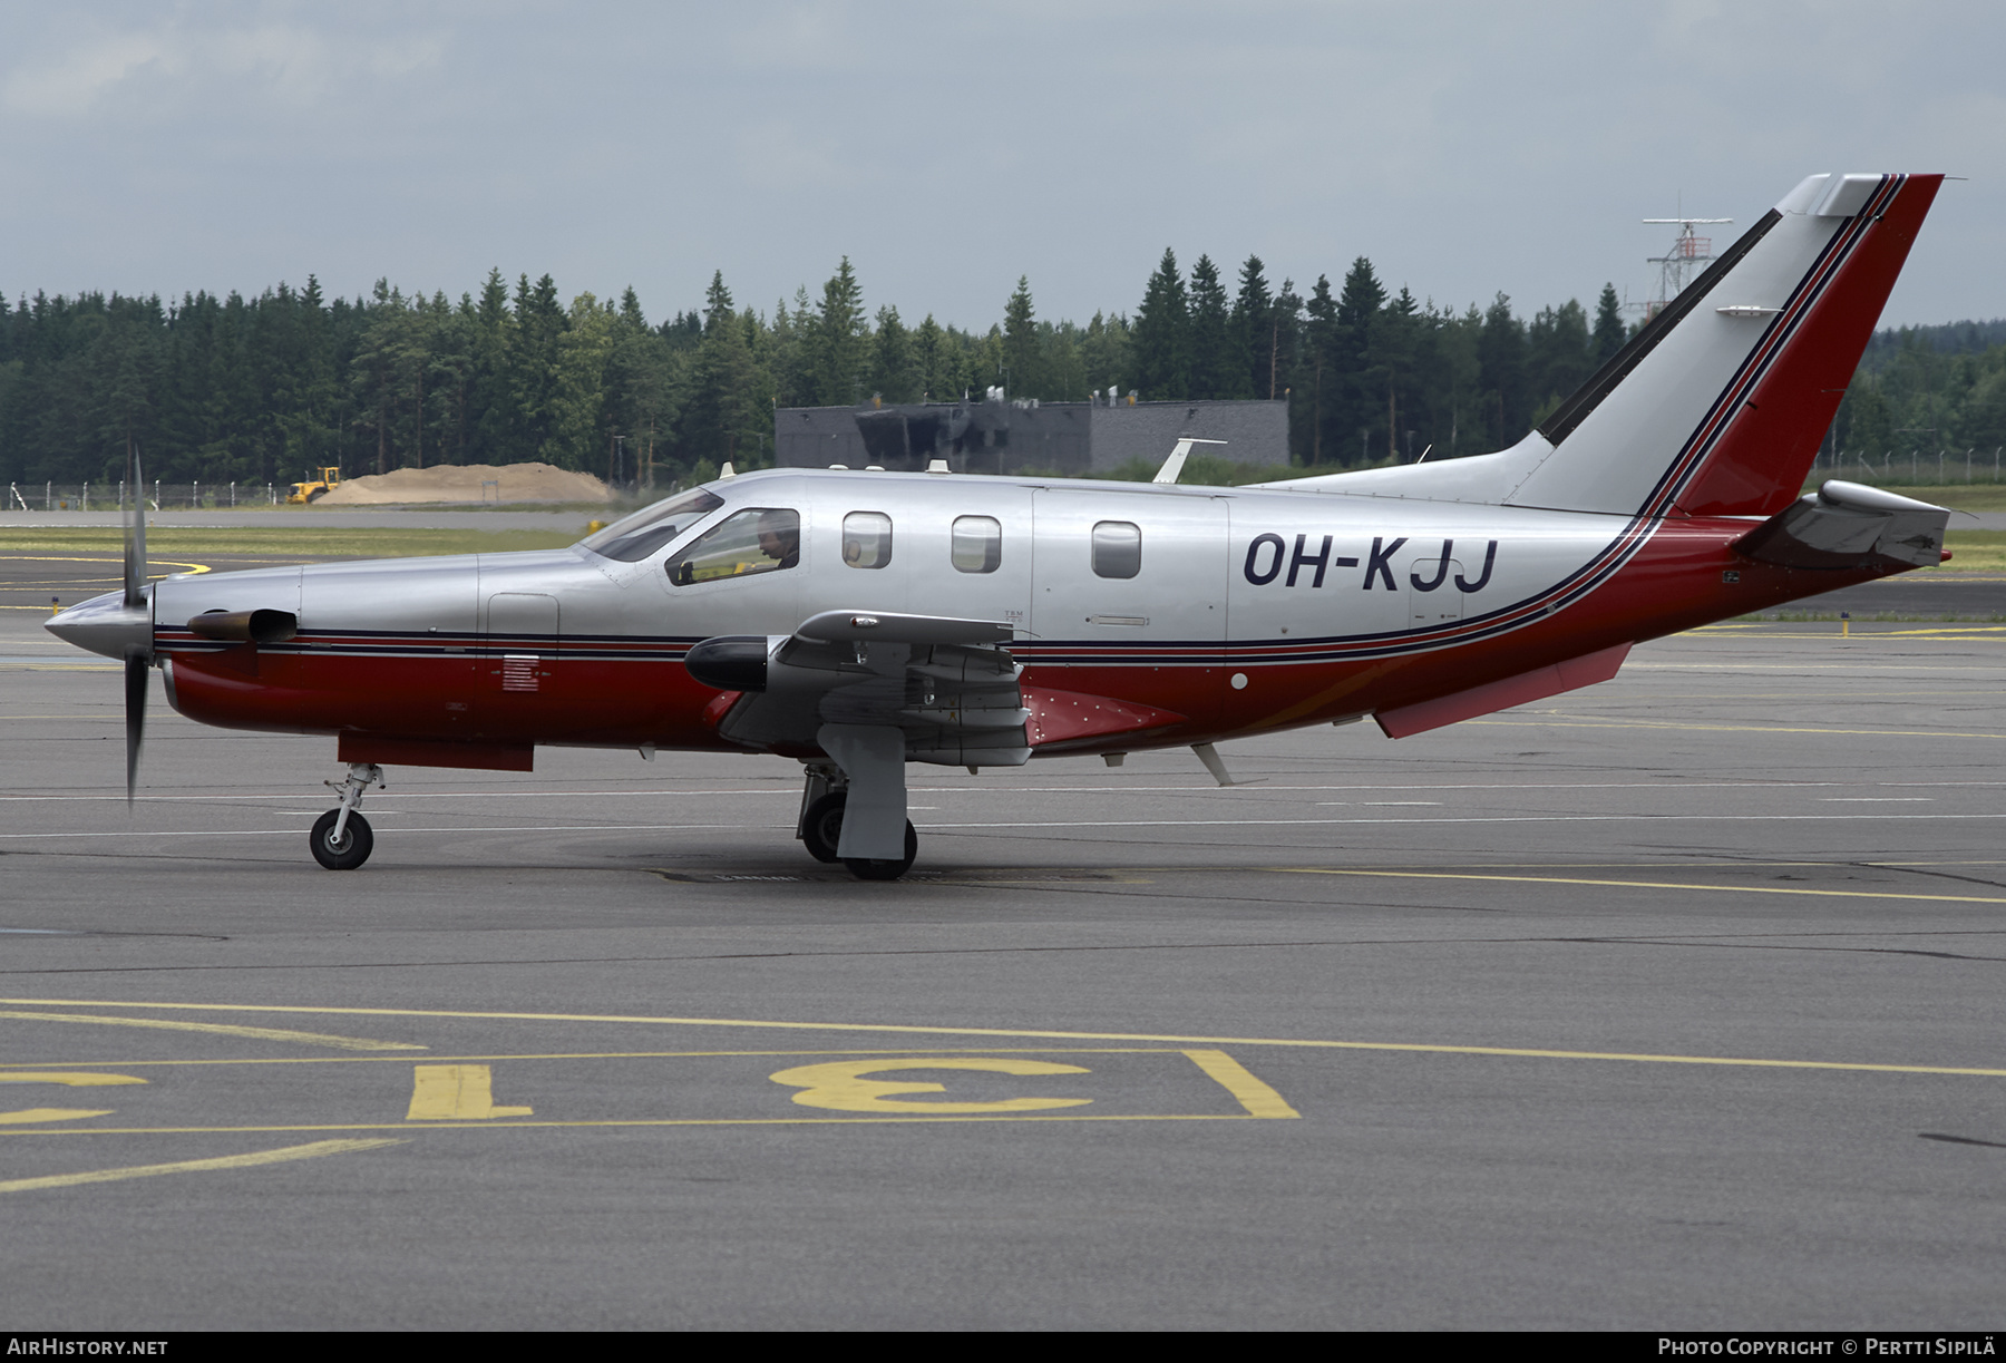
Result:
{"label": "silver and red airplane fuselage marked OH-KJJ, without tail fin and wing", "polygon": [[[169,578],[152,588],[169,697],[209,725],[341,735],[345,757],[379,743],[526,769],[534,745],[718,749],[736,697],[684,670],[692,644],[883,610],[1011,624],[1027,697],[1151,719],[1081,737],[1031,705],[1033,751],[1131,751],[1414,705],[1884,572],[1751,562],[1731,548],[1747,518],[879,472],[710,492],[714,510],[636,560],[572,546]],[[672,580],[690,546],[768,510],[798,518],[792,560]],[[299,628],[263,644],[187,628],[213,610]]]}

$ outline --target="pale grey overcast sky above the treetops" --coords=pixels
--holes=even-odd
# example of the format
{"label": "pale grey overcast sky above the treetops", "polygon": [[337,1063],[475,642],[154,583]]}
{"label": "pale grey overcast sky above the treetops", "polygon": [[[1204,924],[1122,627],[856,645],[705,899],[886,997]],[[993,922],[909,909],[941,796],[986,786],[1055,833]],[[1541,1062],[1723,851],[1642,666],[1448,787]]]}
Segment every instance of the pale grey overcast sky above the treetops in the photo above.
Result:
{"label": "pale grey overcast sky above the treetops", "polygon": [[2006,6],[0,8],[0,291],[550,271],[650,319],[818,293],[1133,313],[1163,247],[1308,293],[1643,299],[1817,171],[1946,171],[1884,321],[2006,315]]}

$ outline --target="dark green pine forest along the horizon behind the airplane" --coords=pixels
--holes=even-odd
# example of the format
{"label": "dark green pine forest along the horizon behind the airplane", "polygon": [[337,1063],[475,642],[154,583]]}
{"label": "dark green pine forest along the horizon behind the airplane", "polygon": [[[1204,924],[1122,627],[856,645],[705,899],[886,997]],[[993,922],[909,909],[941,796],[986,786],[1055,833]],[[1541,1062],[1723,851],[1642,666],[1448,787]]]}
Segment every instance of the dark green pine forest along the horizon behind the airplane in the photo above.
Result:
{"label": "dark green pine forest along the horizon behind the airplane", "polygon": [[[1172,251],[1131,313],[1041,319],[1027,279],[985,331],[875,311],[845,259],[818,295],[742,307],[714,275],[700,311],[650,321],[618,299],[489,271],[477,293],[329,299],[315,279],[237,293],[0,297],[0,482],[112,482],[128,444],[148,478],[285,484],[337,464],[544,460],[632,484],[772,462],[786,405],[1009,397],[1272,397],[1290,462],[1354,468],[1502,448],[1635,327],[1613,287],[1531,317],[1498,293],[1462,311],[1388,289],[1364,257],[1332,287],[1222,275]],[[1876,335],[1827,436],[1866,458],[1996,466],[2006,323]]]}

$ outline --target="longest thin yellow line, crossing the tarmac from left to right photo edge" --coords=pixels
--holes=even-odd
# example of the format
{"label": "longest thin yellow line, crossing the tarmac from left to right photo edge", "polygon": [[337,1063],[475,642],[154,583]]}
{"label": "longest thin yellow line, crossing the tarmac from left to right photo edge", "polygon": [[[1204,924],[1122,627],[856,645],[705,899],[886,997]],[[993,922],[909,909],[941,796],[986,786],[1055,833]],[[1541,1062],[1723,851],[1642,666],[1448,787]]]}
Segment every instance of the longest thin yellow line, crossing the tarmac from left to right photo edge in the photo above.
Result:
{"label": "longest thin yellow line, crossing the tarmac from left to right photo edge", "polygon": [[[343,1018],[451,1018],[473,1022],[588,1022],[656,1028],[744,1028],[772,1032],[869,1032],[895,1036],[1015,1036],[1055,1042],[1167,1042],[1172,1046],[1280,1046],[1290,1050],[1384,1050],[1440,1056],[1521,1056],[1527,1060],[1625,1060],[1635,1064],[1749,1066],[1759,1070],[1856,1070],[1866,1074],[1958,1074],[2006,1078],[2006,1070],[1940,1064],[1870,1064],[1856,1060],[1765,1060],[1755,1056],[1677,1056],[1625,1050],[1551,1050],[1533,1046],[1446,1046],[1436,1042],[1338,1042],[1300,1036],[1188,1036],[1165,1032],[1059,1032],[1045,1028],[957,1028],[899,1022],[774,1022],[762,1018],[666,1018],[646,1014],[518,1014],[447,1008],[325,1008],[303,1004],[134,1004],[130,1000],[18,1000],[0,1004],[46,1004],[54,1008],[189,1008],[209,1012],[277,1012]],[[1047,1118],[1051,1120],[1051,1118]],[[1087,1120],[1087,1118],[1081,1118]],[[536,1124],[536,1122],[532,1122]],[[199,1128],[201,1130],[201,1128]],[[309,1128],[319,1130],[319,1128]]]}

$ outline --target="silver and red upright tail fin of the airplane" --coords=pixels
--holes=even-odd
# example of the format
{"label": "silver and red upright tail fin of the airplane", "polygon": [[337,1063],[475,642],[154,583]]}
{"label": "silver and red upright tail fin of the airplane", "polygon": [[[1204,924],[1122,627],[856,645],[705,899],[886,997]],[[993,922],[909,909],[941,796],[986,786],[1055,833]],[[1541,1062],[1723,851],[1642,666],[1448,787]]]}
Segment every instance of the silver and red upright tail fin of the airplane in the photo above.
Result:
{"label": "silver and red upright tail fin of the airplane", "polygon": [[1942,175],[1813,175],[1511,450],[1278,488],[1773,516],[1831,426]]}

